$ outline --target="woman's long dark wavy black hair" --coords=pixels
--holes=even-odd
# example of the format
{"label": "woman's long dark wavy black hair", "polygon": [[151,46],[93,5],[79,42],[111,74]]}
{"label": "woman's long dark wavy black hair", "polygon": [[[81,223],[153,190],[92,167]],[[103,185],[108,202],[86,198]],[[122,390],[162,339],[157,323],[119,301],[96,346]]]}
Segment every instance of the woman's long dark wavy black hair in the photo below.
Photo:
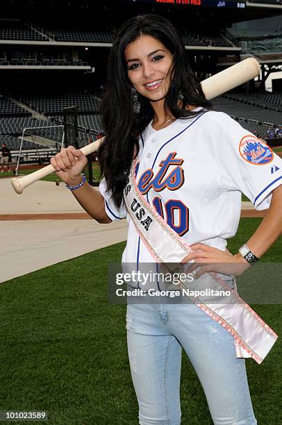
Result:
{"label": "woman's long dark wavy black hair", "polygon": [[[106,135],[98,152],[101,173],[106,178],[108,190],[119,207],[131,163],[139,152],[139,136],[154,117],[149,100],[138,95],[140,113],[134,113],[131,100],[131,82],[127,75],[124,49],[140,35],[151,35],[172,53],[169,69],[170,86],[165,97],[165,110],[176,118],[199,114],[187,109],[188,105],[210,109],[200,82],[190,68],[184,44],[176,28],[164,17],[141,15],[129,19],[119,28],[110,51],[108,85],[101,102],[103,130]],[[179,90],[183,99],[179,103]]]}

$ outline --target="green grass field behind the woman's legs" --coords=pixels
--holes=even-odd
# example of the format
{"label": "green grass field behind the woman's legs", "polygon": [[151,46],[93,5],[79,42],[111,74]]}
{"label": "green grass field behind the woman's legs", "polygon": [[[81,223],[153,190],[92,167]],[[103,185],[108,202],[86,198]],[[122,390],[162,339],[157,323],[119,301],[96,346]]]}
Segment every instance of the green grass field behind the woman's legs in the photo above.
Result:
{"label": "green grass field behind the woman's legs", "polygon": [[[229,250],[235,253],[259,222],[241,219]],[[138,425],[126,306],[107,298],[108,263],[120,262],[124,244],[0,285],[0,410],[48,410],[49,425]],[[280,261],[281,249],[282,238],[262,261]],[[252,307],[281,335],[281,306]],[[281,424],[281,340],[261,365],[246,363],[258,424]],[[213,423],[185,354],[181,408],[183,424]]]}

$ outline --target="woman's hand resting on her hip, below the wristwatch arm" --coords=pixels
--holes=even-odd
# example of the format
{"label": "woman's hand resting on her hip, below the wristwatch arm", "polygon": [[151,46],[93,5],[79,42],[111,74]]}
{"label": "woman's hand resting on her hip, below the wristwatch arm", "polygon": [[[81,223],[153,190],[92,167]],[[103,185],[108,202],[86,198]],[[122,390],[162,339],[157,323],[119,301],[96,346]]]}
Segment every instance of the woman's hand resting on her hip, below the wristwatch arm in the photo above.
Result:
{"label": "woman's hand resting on her hip, below the wristwatch arm", "polygon": [[228,249],[226,249],[226,251],[221,251],[220,249],[209,247],[201,243],[190,245],[190,247],[192,252],[181,260],[181,264],[194,260],[188,272],[192,273],[195,269],[200,267],[199,271],[194,276],[196,279],[207,272],[240,276],[240,274],[244,273],[244,271],[250,267],[250,264],[240,253],[236,253],[233,256]]}

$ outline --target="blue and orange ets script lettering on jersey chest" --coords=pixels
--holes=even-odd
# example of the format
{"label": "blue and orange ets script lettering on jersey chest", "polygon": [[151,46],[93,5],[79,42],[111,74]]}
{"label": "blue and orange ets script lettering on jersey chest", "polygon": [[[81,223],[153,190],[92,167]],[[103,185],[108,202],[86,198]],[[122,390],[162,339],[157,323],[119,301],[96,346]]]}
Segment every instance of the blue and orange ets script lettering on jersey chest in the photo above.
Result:
{"label": "blue and orange ets script lettering on jersey chest", "polygon": [[[160,161],[159,167],[156,176],[152,169],[147,169],[144,171],[142,176],[140,176],[138,182],[138,188],[142,194],[147,194],[151,188],[156,192],[160,192],[165,188],[169,190],[177,190],[181,188],[184,183],[184,173],[181,165],[183,159],[175,158],[176,152],[171,152],[168,154],[165,160]],[[169,167],[175,165],[174,169],[167,174]]]}

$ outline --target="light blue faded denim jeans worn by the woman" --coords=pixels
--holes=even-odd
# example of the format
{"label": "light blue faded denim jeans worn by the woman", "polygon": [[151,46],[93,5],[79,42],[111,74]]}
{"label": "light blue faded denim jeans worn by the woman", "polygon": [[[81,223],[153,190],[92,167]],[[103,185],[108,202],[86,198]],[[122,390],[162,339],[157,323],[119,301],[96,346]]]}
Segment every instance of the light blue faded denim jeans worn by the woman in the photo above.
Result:
{"label": "light blue faded denim jeans worn by the woman", "polygon": [[[162,301],[163,302],[163,301]],[[194,304],[128,304],[128,357],[140,425],[179,425],[181,347],[216,425],[255,425],[245,360],[233,336]]]}

